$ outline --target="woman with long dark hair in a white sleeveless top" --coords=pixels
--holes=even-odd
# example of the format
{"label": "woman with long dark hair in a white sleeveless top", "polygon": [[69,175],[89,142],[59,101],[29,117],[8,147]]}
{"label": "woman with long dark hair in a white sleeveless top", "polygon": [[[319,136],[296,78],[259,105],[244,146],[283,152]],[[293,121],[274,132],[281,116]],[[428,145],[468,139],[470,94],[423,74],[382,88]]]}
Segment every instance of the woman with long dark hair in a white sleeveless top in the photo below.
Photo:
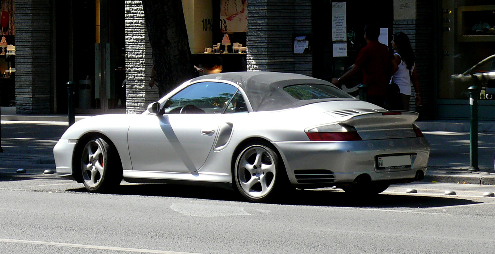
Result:
{"label": "woman with long dark hair in a white sleeveless top", "polygon": [[411,42],[406,34],[398,32],[394,35],[392,40],[392,48],[396,51],[394,53],[393,61],[393,75],[392,82],[396,83],[400,89],[400,108],[397,110],[409,110],[409,99],[411,97],[411,84],[415,90],[416,105],[421,104],[421,97],[419,96],[418,76],[416,73],[416,57],[414,51],[411,48]]}

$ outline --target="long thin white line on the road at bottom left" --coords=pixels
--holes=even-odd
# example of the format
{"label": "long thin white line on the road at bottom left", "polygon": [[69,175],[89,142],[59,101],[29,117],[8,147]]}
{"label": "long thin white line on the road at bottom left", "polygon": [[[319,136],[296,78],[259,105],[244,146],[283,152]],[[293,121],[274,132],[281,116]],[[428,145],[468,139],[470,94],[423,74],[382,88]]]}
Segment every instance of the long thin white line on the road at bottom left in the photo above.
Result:
{"label": "long thin white line on the road at bottom left", "polygon": [[158,253],[158,254],[198,254],[198,253],[189,253],[189,252],[169,252],[169,251],[160,251],[160,250],[134,249],[134,248],[85,245],[85,244],[66,244],[66,243],[42,242],[42,241],[26,241],[26,240],[4,239],[4,238],[0,238],[0,242],[17,243],[17,244],[50,245],[50,246],[59,246],[59,247],[73,247],[73,248],[122,251],[122,252],[141,252],[141,253]]}

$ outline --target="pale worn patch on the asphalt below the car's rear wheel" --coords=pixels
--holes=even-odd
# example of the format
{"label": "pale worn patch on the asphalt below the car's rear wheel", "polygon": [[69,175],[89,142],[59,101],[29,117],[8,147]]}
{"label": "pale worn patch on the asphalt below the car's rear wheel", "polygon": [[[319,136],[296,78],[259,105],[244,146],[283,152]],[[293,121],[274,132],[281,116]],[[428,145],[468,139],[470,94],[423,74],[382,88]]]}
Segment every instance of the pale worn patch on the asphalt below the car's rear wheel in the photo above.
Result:
{"label": "pale worn patch on the asphalt below the car's rear wheel", "polygon": [[198,217],[220,217],[220,216],[236,216],[236,215],[251,215],[244,211],[242,207],[229,207],[207,204],[172,204],[170,209],[175,212],[180,212],[188,216]]}

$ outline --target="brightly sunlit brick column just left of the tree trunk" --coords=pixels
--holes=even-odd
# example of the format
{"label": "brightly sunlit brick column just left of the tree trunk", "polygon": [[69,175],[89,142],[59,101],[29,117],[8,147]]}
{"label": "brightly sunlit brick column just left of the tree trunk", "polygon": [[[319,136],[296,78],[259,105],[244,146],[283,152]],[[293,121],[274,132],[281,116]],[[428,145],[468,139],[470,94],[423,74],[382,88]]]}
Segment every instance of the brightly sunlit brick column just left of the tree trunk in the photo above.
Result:
{"label": "brightly sunlit brick column just left of the tree trunk", "polygon": [[141,0],[125,1],[127,114],[139,114],[158,99],[158,88],[148,86],[153,58],[144,16]]}

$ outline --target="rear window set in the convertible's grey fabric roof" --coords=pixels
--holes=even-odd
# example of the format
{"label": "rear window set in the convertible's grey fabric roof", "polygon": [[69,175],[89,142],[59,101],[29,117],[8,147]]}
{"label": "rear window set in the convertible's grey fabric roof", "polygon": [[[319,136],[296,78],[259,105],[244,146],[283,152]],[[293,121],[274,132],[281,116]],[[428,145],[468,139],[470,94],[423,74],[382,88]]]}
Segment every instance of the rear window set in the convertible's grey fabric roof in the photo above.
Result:
{"label": "rear window set in the convertible's grey fabric roof", "polygon": [[297,100],[315,100],[332,98],[353,98],[347,92],[331,86],[321,84],[301,84],[284,87],[284,91]]}

